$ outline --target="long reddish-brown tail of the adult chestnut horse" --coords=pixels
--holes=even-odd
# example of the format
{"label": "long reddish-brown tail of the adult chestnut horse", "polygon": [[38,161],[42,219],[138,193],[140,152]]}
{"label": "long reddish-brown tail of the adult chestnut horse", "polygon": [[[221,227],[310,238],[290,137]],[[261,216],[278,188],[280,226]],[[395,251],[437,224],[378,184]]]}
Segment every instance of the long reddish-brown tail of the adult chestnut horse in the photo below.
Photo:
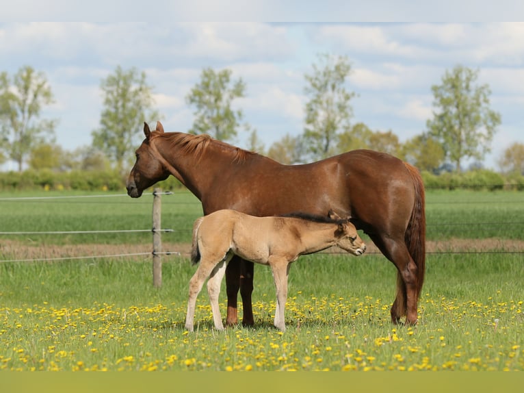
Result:
{"label": "long reddish-brown tail of the adult chestnut horse", "polygon": [[[404,165],[408,168],[413,179],[413,186],[415,186],[415,205],[411,212],[404,241],[408,246],[413,262],[417,265],[418,300],[425,275],[425,191],[419,170],[407,162],[404,162]],[[402,277],[398,278],[402,280]]]}

